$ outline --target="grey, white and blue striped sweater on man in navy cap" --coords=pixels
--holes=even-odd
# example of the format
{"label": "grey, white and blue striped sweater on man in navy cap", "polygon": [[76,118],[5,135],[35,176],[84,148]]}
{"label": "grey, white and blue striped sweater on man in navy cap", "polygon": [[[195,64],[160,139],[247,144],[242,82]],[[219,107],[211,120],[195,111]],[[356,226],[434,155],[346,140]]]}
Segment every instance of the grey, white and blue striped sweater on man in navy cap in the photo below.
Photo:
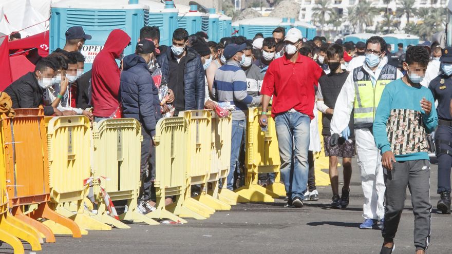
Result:
{"label": "grey, white and blue striped sweater on man in navy cap", "polygon": [[257,106],[259,97],[247,93],[247,76],[235,61],[227,61],[215,72],[212,95],[218,102],[230,102],[236,110],[232,112],[232,120],[245,120],[248,106]]}

